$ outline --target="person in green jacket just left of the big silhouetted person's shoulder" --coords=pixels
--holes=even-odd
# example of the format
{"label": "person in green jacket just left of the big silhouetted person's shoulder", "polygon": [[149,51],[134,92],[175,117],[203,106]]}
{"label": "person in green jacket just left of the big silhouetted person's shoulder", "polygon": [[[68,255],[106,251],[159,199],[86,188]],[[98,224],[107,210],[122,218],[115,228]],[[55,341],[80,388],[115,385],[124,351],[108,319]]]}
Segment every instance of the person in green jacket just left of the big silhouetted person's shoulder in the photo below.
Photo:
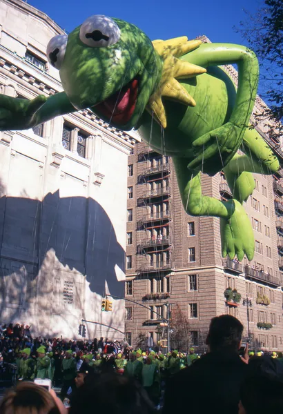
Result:
{"label": "person in green jacket just left of the big silhouetted person's shoulder", "polygon": [[150,400],[157,406],[160,396],[160,375],[153,361],[154,356],[150,353],[146,358],[146,364],[142,367],[142,386],[147,391]]}

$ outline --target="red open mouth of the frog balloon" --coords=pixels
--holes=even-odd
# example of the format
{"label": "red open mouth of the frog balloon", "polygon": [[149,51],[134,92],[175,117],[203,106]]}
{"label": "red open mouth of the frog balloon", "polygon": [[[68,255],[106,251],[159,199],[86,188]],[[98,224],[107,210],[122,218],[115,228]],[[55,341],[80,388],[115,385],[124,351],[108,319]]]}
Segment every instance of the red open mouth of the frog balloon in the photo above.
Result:
{"label": "red open mouth of the frog balloon", "polygon": [[123,88],[108,97],[105,101],[95,105],[97,115],[101,114],[109,122],[117,125],[126,125],[133,116],[137,103],[138,81],[133,79]]}

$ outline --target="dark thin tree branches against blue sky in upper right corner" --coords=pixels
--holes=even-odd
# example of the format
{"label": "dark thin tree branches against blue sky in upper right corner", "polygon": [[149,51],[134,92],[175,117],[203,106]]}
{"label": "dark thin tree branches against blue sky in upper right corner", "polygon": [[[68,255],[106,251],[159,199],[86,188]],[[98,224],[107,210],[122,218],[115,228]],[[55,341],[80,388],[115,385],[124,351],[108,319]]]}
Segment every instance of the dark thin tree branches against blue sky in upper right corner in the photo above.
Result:
{"label": "dark thin tree branches against blue sky in upper right corner", "polygon": [[269,104],[255,121],[273,124],[269,136],[279,139],[283,133],[283,1],[264,0],[257,12],[247,12],[237,32],[248,41],[261,67],[260,95]]}

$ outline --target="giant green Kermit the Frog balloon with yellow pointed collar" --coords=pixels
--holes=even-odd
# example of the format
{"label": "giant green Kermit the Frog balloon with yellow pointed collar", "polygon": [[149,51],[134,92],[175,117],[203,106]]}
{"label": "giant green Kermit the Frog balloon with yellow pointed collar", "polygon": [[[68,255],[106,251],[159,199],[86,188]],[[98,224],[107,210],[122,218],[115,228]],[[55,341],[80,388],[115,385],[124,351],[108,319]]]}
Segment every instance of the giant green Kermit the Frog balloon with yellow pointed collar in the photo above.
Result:
{"label": "giant green Kermit the Frog balloon with yellow pointed collar", "polygon": [[[251,172],[280,168],[271,148],[248,128],[258,82],[257,58],[244,46],[178,37],[150,39],[133,24],[93,15],[48,43],[64,92],[32,101],[0,95],[0,129],[31,128],[89,108],[121,130],[139,128],[151,148],[173,158],[189,215],[220,217],[222,255],[253,258],[254,237],[242,206]],[[237,90],[219,67],[237,64]],[[239,149],[241,152],[239,152]],[[224,170],[233,199],[202,195],[201,173]]]}

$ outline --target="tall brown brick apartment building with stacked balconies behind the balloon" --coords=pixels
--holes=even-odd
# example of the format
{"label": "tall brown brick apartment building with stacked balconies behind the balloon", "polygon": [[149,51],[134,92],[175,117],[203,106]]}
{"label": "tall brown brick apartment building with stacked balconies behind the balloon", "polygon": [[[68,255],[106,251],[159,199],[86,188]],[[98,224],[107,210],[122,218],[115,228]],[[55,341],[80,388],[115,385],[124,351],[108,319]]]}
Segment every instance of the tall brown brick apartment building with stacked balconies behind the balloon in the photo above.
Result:
{"label": "tall brown brick apartment building with stacked balconies behind the balloon", "polygon": [[[227,68],[236,79],[237,72]],[[264,102],[257,98],[254,113]],[[257,127],[258,128],[258,127]],[[283,159],[280,141],[268,128],[261,135]],[[265,132],[264,132],[265,131]],[[219,219],[187,215],[179,196],[170,158],[139,143],[128,157],[128,223],[126,246],[126,337],[135,346],[139,333],[166,339],[157,326],[177,305],[188,318],[190,343],[199,351],[211,318],[234,315],[244,324],[244,337],[260,349],[283,349],[283,173],[254,175],[255,191],[244,208],[255,233],[255,256],[242,263],[221,256]],[[202,175],[204,195],[231,198],[223,173]],[[226,288],[242,296],[235,303]],[[266,325],[271,324],[268,328]],[[165,345],[165,342],[164,342]]]}

